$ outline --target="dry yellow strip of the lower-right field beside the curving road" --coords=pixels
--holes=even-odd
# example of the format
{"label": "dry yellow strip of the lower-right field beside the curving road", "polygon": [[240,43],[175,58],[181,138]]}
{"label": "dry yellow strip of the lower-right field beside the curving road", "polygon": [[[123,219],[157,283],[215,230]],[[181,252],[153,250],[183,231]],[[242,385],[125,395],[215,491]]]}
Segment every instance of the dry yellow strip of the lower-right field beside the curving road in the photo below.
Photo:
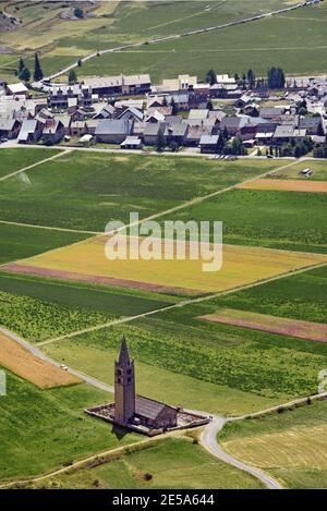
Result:
{"label": "dry yellow strip of the lower-right field beside the curving road", "polygon": [[237,458],[262,469],[327,469],[327,424],[223,441]]}

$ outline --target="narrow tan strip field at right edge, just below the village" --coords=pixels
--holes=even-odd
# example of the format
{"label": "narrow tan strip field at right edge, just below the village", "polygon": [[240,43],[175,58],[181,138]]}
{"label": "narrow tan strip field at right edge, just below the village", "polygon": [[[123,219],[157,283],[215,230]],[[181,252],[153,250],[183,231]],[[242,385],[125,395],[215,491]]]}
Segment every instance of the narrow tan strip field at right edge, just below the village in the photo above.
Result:
{"label": "narrow tan strip field at right edge, just below the village", "polygon": [[283,179],[256,179],[237,186],[241,190],[275,190],[284,192],[314,192],[326,193],[326,181],[283,180]]}

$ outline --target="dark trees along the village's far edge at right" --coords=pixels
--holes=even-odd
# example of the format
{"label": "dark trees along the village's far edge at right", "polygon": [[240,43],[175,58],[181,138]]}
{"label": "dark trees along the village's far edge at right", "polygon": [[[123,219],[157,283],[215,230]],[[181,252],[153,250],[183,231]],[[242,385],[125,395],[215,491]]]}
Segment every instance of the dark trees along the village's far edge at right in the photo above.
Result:
{"label": "dark trees along the village's far edge at right", "polygon": [[[256,78],[255,72],[250,69],[247,73],[234,74],[235,82],[242,88],[255,87],[256,85],[267,85],[269,88],[284,88],[286,77],[281,68],[270,68],[267,70],[267,80]],[[206,82],[210,85],[217,83],[217,75],[214,70],[209,70],[206,74]]]}

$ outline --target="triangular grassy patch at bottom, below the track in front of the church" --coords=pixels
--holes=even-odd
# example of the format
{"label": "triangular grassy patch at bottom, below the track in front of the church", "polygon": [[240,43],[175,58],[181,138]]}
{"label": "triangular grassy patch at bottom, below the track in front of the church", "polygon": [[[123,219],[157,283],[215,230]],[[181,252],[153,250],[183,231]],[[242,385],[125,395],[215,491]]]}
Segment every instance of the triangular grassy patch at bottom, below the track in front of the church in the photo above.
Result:
{"label": "triangular grassy patch at bottom, below the track in front of the church", "polygon": [[[51,477],[43,488],[261,488],[249,474],[208,454],[191,437],[170,438],[94,469]],[[150,474],[150,480],[147,480]]]}

